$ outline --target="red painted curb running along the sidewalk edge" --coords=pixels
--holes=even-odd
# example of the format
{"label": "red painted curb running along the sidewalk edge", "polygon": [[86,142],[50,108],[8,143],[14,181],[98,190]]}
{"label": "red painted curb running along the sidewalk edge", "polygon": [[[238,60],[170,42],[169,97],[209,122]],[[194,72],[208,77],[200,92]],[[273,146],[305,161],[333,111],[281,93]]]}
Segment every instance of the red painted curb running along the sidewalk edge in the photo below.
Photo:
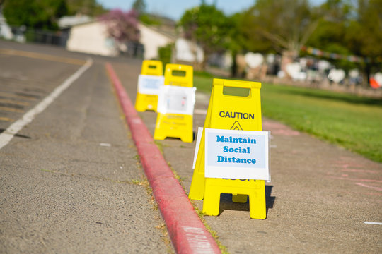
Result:
{"label": "red painted curb running along the sidewalk edge", "polygon": [[216,241],[204,227],[185,191],[156,147],[149,130],[134,109],[110,63],[106,63],[106,69],[117,91],[144,172],[166,222],[176,253],[221,253]]}

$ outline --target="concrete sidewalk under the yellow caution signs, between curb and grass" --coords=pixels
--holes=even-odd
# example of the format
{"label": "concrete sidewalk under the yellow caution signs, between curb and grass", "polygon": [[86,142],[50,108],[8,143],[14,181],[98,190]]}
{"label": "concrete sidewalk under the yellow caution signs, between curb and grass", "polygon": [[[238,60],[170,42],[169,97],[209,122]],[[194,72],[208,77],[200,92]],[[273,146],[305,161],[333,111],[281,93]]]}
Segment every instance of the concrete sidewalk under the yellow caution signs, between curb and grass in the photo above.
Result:
{"label": "concrete sidewalk under the yellow caution signs, between curb and grass", "polygon": [[[140,66],[112,64],[134,102]],[[194,131],[203,126],[209,97],[197,93]],[[140,114],[151,135],[156,114]],[[381,253],[382,164],[263,118],[271,131],[272,183],[267,219],[250,219],[248,202],[221,195],[219,216],[205,216],[229,253]],[[186,193],[195,142],[157,141]],[[193,201],[202,210],[203,201]]]}

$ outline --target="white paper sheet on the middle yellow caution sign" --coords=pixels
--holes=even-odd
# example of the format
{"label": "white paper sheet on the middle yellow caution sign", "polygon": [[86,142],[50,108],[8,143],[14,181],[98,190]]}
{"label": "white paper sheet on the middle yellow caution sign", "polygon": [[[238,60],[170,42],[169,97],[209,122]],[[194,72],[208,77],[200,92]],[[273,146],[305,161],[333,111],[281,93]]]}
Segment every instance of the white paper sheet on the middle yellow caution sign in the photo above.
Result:
{"label": "white paper sheet on the middle yellow caution sign", "polygon": [[163,85],[159,88],[158,109],[161,114],[194,113],[195,87],[180,87],[177,85]]}

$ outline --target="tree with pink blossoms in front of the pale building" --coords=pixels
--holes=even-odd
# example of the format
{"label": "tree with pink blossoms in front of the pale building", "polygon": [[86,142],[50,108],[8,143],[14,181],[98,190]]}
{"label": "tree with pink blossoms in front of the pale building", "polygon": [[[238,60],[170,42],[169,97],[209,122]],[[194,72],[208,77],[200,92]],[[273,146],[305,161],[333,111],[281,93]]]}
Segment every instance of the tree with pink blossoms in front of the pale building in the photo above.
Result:
{"label": "tree with pink blossoms in front of the pale building", "polygon": [[138,28],[138,13],[134,10],[112,10],[100,16],[107,25],[108,35],[117,42],[138,42],[140,33]]}

